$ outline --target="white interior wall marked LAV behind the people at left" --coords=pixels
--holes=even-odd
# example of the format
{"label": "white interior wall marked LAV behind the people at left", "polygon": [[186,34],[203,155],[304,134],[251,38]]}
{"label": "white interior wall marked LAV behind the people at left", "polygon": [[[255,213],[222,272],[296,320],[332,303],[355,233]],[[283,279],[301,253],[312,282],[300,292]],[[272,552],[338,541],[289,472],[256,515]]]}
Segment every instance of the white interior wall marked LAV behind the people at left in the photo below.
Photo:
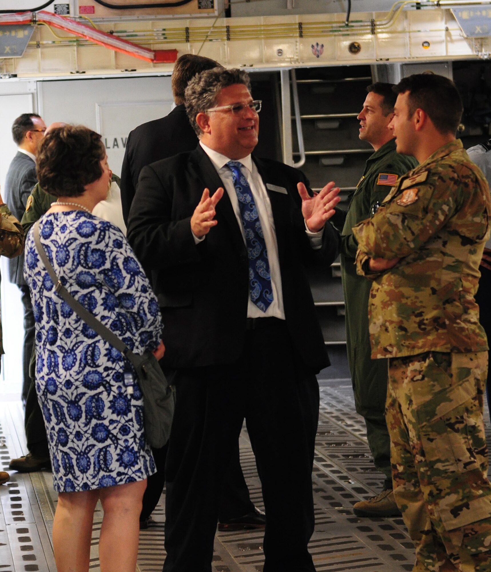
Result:
{"label": "white interior wall marked LAV behind the people at left", "polygon": [[[10,127],[21,113],[38,112],[53,121],[82,124],[100,132],[109,164],[121,173],[124,145],[130,130],[162,117],[172,108],[171,78],[134,77],[72,81],[0,82],[0,186],[16,153]],[[2,391],[20,394],[22,380],[22,304],[16,285],[7,281],[6,259],[0,258],[3,325]]]}

